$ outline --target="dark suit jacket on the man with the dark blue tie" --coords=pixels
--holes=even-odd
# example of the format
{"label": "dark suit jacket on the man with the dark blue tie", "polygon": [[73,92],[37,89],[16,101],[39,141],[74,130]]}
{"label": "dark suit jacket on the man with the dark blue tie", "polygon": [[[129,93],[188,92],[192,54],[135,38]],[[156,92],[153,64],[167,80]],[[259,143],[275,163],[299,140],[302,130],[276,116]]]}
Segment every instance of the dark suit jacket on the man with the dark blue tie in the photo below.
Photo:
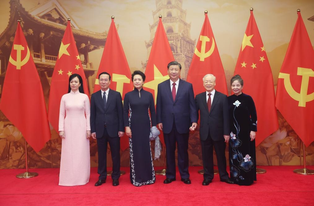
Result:
{"label": "dark suit jacket on the man with the dark blue tie", "polygon": [[101,91],[92,94],[90,99],[90,129],[96,132],[96,138],[104,134],[104,126],[110,137],[117,137],[118,132],[124,132],[123,106],[120,92],[109,89],[106,110],[101,96]]}

